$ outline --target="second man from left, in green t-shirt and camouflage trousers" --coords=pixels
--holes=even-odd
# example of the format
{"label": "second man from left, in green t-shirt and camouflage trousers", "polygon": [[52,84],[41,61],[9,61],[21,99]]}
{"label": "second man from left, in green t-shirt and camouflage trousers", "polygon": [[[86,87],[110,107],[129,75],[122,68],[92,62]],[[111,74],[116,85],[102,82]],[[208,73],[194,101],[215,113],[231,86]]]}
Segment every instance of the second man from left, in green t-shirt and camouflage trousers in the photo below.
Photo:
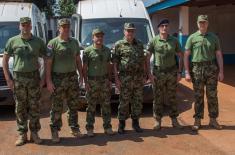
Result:
{"label": "second man from left, in green t-shirt and camouflage trousers", "polygon": [[78,125],[79,83],[76,70],[82,83],[82,64],[77,40],[69,37],[70,21],[61,19],[58,23],[59,36],[47,45],[46,78],[47,88],[52,93],[51,132],[52,141],[60,141],[58,131],[62,127],[63,101],[67,99],[68,124],[73,136],[82,136]]}

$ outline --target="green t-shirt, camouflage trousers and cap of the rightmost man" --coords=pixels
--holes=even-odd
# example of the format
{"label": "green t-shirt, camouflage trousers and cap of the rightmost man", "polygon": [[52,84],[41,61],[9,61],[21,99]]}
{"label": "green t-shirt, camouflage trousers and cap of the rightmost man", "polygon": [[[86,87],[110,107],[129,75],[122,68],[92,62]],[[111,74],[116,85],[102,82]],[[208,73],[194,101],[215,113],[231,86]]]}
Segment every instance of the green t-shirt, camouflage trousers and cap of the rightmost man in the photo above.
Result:
{"label": "green t-shirt, camouflage trousers and cap of the rightmost man", "polygon": [[[199,16],[198,19],[201,17]],[[206,87],[209,116],[217,118],[219,114],[217,97],[219,70],[215,52],[220,50],[219,39],[211,32],[203,35],[198,31],[189,36],[185,49],[190,50],[192,56],[190,74],[195,91],[194,118],[202,119],[204,117],[204,87]]]}

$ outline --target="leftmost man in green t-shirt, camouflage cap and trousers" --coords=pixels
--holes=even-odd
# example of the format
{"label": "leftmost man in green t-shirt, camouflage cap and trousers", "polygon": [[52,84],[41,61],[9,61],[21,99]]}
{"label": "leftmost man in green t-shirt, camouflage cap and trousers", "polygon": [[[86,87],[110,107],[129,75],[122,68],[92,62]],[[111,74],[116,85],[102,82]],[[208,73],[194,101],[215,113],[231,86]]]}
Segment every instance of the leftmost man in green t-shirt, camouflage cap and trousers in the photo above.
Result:
{"label": "leftmost man in green t-shirt, camouflage cap and trousers", "polygon": [[[40,144],[38,136],[41,128],[40,118],[40,76],[38,58],[46,54],[46,45],[40,38],[31,34],[31,19],[20,18],[21,33],[10,38],[3,56],[3,70],[7,85],[11,88],[15,99],[15,113],[19,138],[16,145],[27,142],[28,119],[31,131],[30,140]],[[13,56],[13,80],[9,74],[8,62]],[[43,80],[42,80],[43,81]]]}

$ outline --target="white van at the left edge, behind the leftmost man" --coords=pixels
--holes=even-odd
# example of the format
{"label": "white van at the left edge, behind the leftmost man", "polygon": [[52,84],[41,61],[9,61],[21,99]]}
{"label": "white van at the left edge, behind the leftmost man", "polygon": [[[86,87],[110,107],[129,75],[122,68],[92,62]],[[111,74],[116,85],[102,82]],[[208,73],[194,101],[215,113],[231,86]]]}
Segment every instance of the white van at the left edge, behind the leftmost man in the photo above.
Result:
{"label": "white van at the left edge, behind the leftmost man", "polygon": [[[21,17],[31,18],[32,33],[42,38],[46,43],[46,20],[36,5],[32,3],[0,2],[0,97],[6,97],[6,100],[0,102],[0,105],[14,103],[12,100],[12,92],[7,87],[3,75],[2,57],[7,40],[20,33],[19,20]],[[12,66],[13,59],[11,58],[9,60],[9,70],[11,74]],[[43,65],[41,66],[43,67]]]}

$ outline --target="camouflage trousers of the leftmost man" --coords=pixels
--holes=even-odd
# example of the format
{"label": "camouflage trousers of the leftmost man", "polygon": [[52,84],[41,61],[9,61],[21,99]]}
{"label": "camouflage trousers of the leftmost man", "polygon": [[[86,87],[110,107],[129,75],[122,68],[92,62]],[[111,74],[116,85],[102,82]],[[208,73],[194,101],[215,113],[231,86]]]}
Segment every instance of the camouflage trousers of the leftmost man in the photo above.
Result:
{"label": "camouflage trousers of the leftmost man", "polygon": [[40,119],[40,76],[39,72],[14,72],[14,99],[17,128],[19,134],[25,134],[29,129],[38,132],[41,129]]}

